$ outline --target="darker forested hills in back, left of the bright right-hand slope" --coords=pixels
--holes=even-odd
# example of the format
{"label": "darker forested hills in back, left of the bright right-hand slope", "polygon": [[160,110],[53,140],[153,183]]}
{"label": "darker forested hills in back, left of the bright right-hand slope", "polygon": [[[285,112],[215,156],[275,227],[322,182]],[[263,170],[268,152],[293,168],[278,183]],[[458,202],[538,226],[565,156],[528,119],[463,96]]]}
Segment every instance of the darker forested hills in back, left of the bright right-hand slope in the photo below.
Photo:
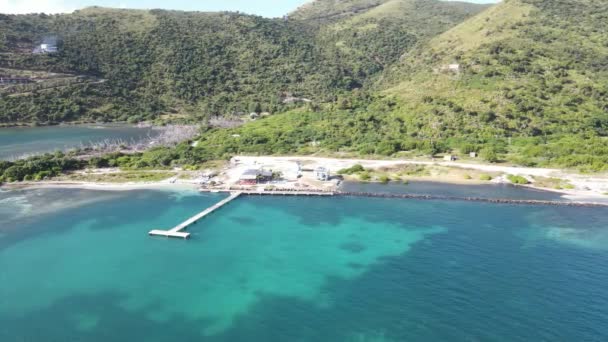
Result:
{"label": "darker forested hills in back, left of the bright right-hand slope", "polygon": [[[331,102],[483,8],[406,2],[403,15],[365,13],[332,27],[237,13],[105,8],[0,16],[0,67],[104,80],[2,95],[0,123],[139,121],[161,114],[201,120],[276,113],[304,99]],[[429,18],[436,20],[420,24]],[[48,35],[59,37],[59,52],[32,54]]]}

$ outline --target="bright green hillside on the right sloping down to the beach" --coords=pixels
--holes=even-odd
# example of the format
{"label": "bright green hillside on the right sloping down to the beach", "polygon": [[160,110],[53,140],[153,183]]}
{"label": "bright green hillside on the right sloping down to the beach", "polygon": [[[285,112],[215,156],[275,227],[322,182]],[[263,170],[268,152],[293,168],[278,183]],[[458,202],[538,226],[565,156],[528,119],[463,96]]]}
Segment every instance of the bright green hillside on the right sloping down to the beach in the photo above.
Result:
{"label": "bright green hillside on the right sloping down to the beach", "polygon": [[507,0],[404,53],[373,92],[204,139],[228,154],[479,152],[606,170],[607,19],[608,1]]}

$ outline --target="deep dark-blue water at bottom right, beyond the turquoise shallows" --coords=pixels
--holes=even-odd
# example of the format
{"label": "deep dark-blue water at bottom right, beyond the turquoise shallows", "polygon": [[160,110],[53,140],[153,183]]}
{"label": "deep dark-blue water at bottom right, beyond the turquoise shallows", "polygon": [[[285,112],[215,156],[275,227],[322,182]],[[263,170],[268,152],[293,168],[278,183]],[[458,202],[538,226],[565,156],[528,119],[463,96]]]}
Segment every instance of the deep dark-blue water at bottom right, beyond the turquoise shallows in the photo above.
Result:
{"label": "deep dark-blue water at bottom right, beyond the turquoise shallows", "polygon": [[[405,255],[386,257],[361,277],[334,278],[323,290],[332,298],[329,306],[265,296],[217,338],[505,342],[608,338],[604,324],[608,294],[602,290],[608,272],[583,276],[575,272],[595,268],[587,264],[587,251],[547,247],[521,251],[521,240],[512,234],[517,220],[492,227],[434,235],[429,238],[432,244],[415,244]],[[606,255],[602,259],[608,261]]]}

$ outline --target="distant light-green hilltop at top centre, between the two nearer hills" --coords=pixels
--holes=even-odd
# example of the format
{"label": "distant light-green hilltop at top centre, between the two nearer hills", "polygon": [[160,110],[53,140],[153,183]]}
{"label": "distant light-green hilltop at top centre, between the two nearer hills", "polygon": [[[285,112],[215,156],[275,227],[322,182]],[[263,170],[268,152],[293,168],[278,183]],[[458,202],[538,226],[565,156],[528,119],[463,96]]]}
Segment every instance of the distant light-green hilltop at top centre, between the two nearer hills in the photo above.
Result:
{"label": "distant light-green hilltop at top centre, between the two nearer hills", "polygon": [[[321,0],[308,6],[324,8],[332,3]],[[386,0],[367,3],[368,7],[363,5],[357,1],[342,1],[331,11],[321,11],[344,13],[323,22],[316,35],[320,52],[337,56],[341,65],[356,75],[362,75],[359,79],[366,81],[363,86],[416,44],[445,32],[486,8],[436,0]],[[363,6],[365,9],[354,11],[348,6]]]}

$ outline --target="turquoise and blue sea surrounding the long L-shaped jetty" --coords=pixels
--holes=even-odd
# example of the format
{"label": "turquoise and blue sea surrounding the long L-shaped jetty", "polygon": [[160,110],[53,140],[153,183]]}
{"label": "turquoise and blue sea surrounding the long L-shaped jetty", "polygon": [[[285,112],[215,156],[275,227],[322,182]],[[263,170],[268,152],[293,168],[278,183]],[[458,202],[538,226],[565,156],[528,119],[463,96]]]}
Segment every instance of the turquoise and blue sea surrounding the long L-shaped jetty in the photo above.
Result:
{"label": "turquoise and blue sea surrounding the long L-shaped jetty", "polygon": [[[0,192],[0,341],[606,341],[603,208]],[[50,207],[48,207],[50,205]]]}

